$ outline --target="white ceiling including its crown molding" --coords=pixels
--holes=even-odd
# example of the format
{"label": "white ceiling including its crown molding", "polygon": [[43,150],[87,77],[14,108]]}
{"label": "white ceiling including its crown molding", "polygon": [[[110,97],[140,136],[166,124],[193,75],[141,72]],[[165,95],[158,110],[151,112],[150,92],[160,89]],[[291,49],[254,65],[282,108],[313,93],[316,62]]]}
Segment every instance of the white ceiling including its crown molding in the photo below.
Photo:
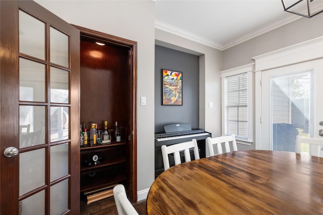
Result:
{"label": "white ceiling including its crown molding", "polygon": [[155,1],[156,29],[220,50],[300,18],[281,0]]}

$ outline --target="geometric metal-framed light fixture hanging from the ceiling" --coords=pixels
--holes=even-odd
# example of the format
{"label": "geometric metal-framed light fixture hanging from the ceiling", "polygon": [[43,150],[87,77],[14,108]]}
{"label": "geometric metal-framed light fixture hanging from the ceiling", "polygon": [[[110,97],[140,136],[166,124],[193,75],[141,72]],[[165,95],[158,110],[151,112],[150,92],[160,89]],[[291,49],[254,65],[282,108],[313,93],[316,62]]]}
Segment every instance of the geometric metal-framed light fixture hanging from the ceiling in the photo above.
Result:
{"label": "geometric metal-framed light fixture hanging from the ceiling", "polygon": [[323,0],[282,0],[284,11],[311,18],[323,12]]}

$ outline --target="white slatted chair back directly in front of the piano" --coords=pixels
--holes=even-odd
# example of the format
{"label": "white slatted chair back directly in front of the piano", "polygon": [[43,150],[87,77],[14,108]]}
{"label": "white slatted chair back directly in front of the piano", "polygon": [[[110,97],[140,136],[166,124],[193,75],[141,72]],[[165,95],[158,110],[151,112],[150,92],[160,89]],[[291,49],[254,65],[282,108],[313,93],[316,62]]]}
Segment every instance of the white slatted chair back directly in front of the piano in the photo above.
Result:
{"label": "white slatted chair back directly in front of the piano", "polygon": [[191,161],[190,149],[194,150],[194,158],[195,160],[200,159],[198,154],[198,146],[196,139],[192,139],[187,142],[180,142],[179,144],[174,144],[171,146],[163,145],[161,146],[161,155],[163,155],[164,162],[164,170],[168,170],[170,168],[170,161],[168,158],[169,154],[174,155],[175,165],[181,164],[180,151],[184,151],[185,162]]}

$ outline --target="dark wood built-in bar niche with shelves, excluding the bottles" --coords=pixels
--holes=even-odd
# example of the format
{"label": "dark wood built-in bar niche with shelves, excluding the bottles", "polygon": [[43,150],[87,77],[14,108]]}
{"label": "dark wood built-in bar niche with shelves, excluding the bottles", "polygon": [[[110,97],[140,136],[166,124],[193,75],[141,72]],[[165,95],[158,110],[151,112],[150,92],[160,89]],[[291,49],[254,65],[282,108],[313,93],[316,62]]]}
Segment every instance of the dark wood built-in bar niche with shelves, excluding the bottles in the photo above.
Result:
{"label": "dark wood built-in bar niche with shelves, excluding the bottles", "polygon": [[[137,43],[75,26],[80,30],[80,124],[88,131],[107,128],[114,136],[115,122],[121,142],[80,149],[80,192],[125,185],[137,200],[136,52]],[[96,42],[104,43],[99,46]],[[104,158],[94,165],[93,156]],[[91,162],[87,167],[84,161]]]}

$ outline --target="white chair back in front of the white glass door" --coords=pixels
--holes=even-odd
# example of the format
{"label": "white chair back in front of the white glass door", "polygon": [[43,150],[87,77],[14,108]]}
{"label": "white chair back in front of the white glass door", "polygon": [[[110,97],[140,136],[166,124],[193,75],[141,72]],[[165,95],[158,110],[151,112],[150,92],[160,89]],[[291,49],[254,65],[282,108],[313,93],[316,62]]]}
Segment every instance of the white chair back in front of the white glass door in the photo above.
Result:
{"label": "white chair back in front of the white glass door", "polygon": [[323,157],[323,139],[296,136],[296,153],[301,153],[301,144],[309,145],[309,155]]}

